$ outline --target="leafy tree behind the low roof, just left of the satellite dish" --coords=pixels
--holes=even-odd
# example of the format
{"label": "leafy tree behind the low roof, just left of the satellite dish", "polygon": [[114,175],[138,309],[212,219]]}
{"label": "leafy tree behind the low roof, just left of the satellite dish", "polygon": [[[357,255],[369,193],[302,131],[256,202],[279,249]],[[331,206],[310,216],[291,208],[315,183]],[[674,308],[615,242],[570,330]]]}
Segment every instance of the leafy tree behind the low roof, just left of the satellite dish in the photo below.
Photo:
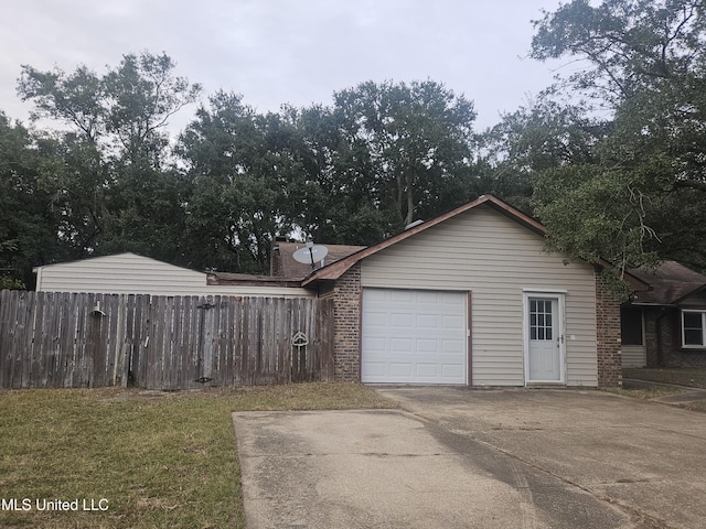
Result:
{"label": "leafy tree behind the low roof, just left of the satellite dish", "polygon": [[[180,140],[193,193],[188,205],[190,263],[266,273],[270,241],[290,228],[282,208],[291,160],[277,115],[218,91]],[[281,140],[280,140],[281,141]]]}

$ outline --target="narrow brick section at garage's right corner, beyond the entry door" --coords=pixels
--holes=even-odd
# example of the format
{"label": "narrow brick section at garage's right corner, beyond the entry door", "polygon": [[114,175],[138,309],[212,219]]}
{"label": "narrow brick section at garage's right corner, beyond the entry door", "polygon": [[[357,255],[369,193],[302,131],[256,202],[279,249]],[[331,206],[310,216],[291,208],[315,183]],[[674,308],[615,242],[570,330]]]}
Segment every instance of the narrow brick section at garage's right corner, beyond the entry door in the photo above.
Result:
{"label": "narrow brick section at garage's right corner, beyond the entry door", "polygon": [[608,290],[599,271],[596,271],[596,338],[598,387],[622,386],[620,302]]}

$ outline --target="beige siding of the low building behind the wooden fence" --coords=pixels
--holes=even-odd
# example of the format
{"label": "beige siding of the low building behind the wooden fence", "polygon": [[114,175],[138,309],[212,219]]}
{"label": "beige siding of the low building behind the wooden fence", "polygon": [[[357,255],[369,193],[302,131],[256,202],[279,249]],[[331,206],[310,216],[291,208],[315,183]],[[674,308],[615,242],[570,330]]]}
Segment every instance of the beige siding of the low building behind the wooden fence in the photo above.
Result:
{"label": "beige siding of the low building behind the wooden fence", "polygon": [[41,292],[151,295],[311,296],[306,289],[208,285],[206,274],[135,253],[96,257],[36,269]]}

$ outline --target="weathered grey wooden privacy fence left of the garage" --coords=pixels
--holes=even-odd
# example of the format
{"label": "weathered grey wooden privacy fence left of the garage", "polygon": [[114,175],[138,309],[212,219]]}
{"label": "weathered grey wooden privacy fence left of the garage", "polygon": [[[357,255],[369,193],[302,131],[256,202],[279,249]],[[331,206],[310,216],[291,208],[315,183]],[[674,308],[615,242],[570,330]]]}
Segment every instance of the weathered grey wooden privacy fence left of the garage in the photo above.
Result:
{"label": "weathered grey wooden privacy fence left of the garage", "polygon": [[193,389],[333,380],[310,298],[0,292],[0,388]]}

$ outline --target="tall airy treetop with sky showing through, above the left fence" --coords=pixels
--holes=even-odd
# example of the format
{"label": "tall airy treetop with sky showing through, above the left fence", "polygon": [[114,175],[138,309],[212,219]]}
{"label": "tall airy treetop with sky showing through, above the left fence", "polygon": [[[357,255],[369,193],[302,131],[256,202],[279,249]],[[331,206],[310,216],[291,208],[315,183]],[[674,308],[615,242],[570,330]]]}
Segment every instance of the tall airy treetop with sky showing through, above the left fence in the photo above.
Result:
{"label": "tall airy treetop with sky showing through, above the left fence", "polygon": [[89,143],[100,143],[106,155],[131,163],[143,159],[158,169],[169,119],[201,93],[201,85],[174,75],[175,66],[167,54],[149,52],[124,55],[103,76],[85,65],[71,74],[23,65],[18,94],[34,104],[33,119],[57,120]]}

